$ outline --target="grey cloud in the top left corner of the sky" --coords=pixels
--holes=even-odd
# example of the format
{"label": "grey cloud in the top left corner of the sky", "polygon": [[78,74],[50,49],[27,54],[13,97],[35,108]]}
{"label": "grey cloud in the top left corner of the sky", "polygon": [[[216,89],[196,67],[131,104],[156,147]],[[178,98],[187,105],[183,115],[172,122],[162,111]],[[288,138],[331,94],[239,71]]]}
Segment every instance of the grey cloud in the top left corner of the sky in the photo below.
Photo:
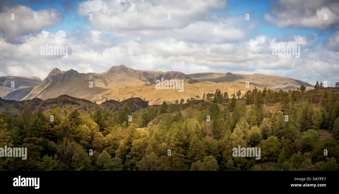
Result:
{"label": "grey cloud in the top left corner of the sky", "polygon": [[33,11],[25,5],[4,6],[0,11],[1,36],[7,42],[20,41],[18,36],[40,32],[47,26],[55,26],[62,21],[62,17],[62,12],[52,7]]}

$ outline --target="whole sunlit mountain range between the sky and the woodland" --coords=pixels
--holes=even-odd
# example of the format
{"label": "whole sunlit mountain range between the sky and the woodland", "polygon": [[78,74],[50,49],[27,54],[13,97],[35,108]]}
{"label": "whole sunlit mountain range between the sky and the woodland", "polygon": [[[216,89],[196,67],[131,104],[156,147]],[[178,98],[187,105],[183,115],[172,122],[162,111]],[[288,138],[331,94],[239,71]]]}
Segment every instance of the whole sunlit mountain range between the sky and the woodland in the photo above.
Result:
{"label": "whole sunlit mountain range between the sky and the woodland", "polygon": [[[183,79],[184,91],[157,90],[156,80]],[[11,88],[11,82],[15,82],[15,88]],[[250,87],[246,88],[246,81]],[[93,87],[91,86],[93,84]],[[45,79],[37,77],[0,77],[0,97],[7,100],[30,100],[39,98],[47,100],[57,98],[60,95],[68,95],[82,98],[96,103],[106,100],[124,100],[140,97],[149,101],[149,104],[160,104],[162,101],[174,103],[181,98],[201,99],[204,93],[214,93],[217,89],[231,94],[241,91],[260,90],[263,87],[275,91],[296,89],[300,85],[307,89],[313,86],[307,82],[278,76],[263,74],[232,74],[232,73],[195,73],[184,74],[177,71],[142,71],[134,70],[124,65],[112,66],[103,73],[79,73],[73,69],[60,71],[54,68]]]}

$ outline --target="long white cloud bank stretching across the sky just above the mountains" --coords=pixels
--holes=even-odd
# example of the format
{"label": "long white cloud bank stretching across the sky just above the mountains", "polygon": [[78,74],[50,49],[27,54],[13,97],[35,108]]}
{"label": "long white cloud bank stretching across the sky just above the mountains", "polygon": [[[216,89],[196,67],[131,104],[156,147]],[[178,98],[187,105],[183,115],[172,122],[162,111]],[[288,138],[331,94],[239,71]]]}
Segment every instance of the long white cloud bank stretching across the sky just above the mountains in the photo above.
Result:
{"label": "long white cloud bank stretching across the sky just above the mountains", "polygon": [[[82,37],[82,38],[81,38]],[[79,41],[81,38],[81,41]],[[25,43],[11,44],[0,41],[0,60],[3,75],[47,76],[54,67],[63,71],[74,69],[80,73],[102,73],[112,65],[123,64],[140,70],[197,72],[266,73],[309,81],[327,80],[334,83],[338,75],[338,52],[316,43],[318,37],[286,36],[270,38],[259,35],[242,42],[192,43],[175,38],[109,39],[100,31],[82,30],[68,35],[42,31],[24,36]],[[41,56],[41,45],[68,45],[73,53],[62,56]],[[314,46],[313,44],[316,43]],[[300,58],[272,55],[272,47],[300,45]],[[314,46],[314,48],[313,48]],[[211,50],[206,53],[206,48]],[[131,48],[132,55],[128,53]],[[312,48],[312,49],[311,49]]]}

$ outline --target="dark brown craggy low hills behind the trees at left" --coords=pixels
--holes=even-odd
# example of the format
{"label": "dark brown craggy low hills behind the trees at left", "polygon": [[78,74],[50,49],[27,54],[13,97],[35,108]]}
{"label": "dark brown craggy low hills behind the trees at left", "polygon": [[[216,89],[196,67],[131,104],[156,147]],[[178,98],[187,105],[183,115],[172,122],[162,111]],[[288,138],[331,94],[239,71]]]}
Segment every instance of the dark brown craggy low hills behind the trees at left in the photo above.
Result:
{"label": "dark brown craggy low hills behind the trees at left", "polygon": [[94,111],[101,108],[104,112],[108,111],[110,113],[122,111],[125,106],[131,112],[135,112],[149,106],[147,102],[143,101],[141,98],[129,98],[123,100],[122,102],[108,100],[101,104],[96,104],[89,100],[75,98],[68,95],[61,95],[57,98],[46,100],[33,98],[30,100],[15,101],[0,98],[0,113],[5,112],[6,107],[8,107],[9,112],[11,112],[12,114],[21,114],[24,108],[31,108],[32,111],[36,111],[39,109],[39,107],[44,113],[46,113],[48,112],[48,110],[53,109],[54,105],[59,105],[61,110],[66,107],[71,107],[72,109],[79,109],[84,111]]}

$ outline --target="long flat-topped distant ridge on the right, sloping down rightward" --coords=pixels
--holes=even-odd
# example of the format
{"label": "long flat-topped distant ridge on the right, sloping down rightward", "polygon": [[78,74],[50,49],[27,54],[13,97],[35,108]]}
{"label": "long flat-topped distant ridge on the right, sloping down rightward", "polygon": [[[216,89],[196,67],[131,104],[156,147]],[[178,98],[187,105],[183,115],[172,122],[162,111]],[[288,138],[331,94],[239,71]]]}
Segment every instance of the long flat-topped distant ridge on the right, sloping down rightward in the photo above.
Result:
{"label": "long flat-topped distant ridge on the right, sloping down rightward", "polygon": [[250,84],[260,87],[267,87],[271,88],[275,91],[279,90],[293,90],[299,88],[300,85],[304,84],[307,90],[313,89],[313,85],[293,79],[293,78],[286,78],[286,77],[279,77],[279,76],[272,76],[272,75],[264,75],[264,74],[232,74],[232,73],[195,73],[195,74],[188,74],[192,79],[198,81],[213,81],[216,83],[219,82],[232,82],[232,81],[241,81],[241,82],[250,82]]}

